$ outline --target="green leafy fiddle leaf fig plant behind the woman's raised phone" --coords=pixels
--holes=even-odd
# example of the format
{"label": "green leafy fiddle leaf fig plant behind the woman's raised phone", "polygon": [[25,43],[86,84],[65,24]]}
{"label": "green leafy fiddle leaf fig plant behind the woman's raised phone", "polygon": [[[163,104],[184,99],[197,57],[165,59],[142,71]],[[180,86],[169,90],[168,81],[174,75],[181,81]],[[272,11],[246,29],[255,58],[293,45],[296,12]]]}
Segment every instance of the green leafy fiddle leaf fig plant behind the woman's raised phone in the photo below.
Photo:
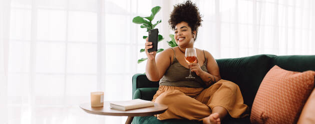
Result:
{"label": "green leafy fiddle leaf fig plant behind the woman's raised phone", "polygon": [[[150,29],[154,29],[154,27],[161,23],[162,20],[158,20],[156,21],[156,23],[152,24],[152,20],[154,19],[154,16],[156,15],[157,12],[159,12],[161,9],[160,6],[155,6],[151,9],[151,15],[150,16],[147,16],[147,17],[141,17],[141,16],[136,16],[132,19],[132,22],[134,23],[137,23],[137,24],[141,24],[140,27],[141,28],[146,28],[147,29],[147,32],[150,30]],[[176,42],[175,42],[175,39],[174,39],[174,34],[169,34],[169,36],[171,37],[171,40],[170,41],[167,41],[168,45],[171,46],[171,47],[174,47],[174,46],[177,46]],[[143,39],[146,39],[148,36],[144,35],[142,38]],[[158,42],[162,41],[164,39],[164,37],[162,35],[158,35]],[[164,49],[163,48],[159,48],[156,52],[161,52],[163,51]],[[144,52],[145,49],[142,48],[140,49],[140,52]],[[138,59],[138,63],[141,63],[142,61],[145,61],[147,60],[148,58],[141,58],[141,59]]]}

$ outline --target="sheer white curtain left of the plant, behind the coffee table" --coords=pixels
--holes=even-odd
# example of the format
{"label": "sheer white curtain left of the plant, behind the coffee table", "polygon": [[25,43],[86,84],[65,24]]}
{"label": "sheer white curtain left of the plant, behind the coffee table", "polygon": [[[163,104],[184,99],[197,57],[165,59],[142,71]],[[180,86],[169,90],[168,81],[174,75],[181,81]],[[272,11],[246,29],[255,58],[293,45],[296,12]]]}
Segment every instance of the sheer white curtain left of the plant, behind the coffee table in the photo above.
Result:
{"label": "sheer white curtain left of the plant, behind the coffee table", "polygon": [[131,77],[144,72],[137,59],[146,34],[132,18],[151,8],[148,0],[1,0],[4,118],[124,123],[126,117],[89,114],[79,104],[90,101],[91,91],[104,91],[105,100],[132,98]]}

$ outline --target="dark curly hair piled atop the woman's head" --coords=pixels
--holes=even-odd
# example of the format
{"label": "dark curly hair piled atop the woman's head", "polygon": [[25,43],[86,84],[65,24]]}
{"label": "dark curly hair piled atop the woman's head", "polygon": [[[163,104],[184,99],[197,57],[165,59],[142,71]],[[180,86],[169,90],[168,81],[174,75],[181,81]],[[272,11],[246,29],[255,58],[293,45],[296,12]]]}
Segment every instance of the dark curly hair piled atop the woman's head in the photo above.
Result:
{"label": "dark curly hair piled atop the woman's head", "polygon": [[198,27],[201,26],[201,15],[199,9],[195,3],[187,0],[184,3],[174,5],[174,9],[170,15],[168,23],[171,25],[172,29],[175,29],[176,24],[185,21],[191,27],[191,30],[196,32]]}

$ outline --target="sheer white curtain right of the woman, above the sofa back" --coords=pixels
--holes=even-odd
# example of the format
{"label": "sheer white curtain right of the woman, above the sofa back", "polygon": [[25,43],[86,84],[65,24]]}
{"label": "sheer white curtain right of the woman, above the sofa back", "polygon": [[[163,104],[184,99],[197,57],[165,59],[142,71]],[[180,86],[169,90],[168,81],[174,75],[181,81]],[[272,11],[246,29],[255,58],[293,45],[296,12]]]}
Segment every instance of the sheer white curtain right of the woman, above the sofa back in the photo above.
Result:
{"label": "sheer white curtain right of the woman, above the sofa back", "polygon": [[313,0],[196,0],[196,47],[215,58],[315,54]]}

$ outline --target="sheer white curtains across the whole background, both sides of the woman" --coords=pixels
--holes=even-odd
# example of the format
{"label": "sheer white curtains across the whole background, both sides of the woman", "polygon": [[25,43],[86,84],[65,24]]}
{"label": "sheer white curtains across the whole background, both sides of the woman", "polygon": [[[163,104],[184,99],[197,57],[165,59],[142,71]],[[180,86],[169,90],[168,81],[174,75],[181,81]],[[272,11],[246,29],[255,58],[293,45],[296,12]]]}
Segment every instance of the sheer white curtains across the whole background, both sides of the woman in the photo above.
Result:
{"label": "sheer white curtains across the whole background, both sides of the woman", "polygon": [[[183,0],[0,1],[1,123],[124,123],[78,105],[97,90],[105,100],[131,99],[147,35],[132,18],[160,5],[159,47],[167,48],[167,20]],[[196,47],[215,58],[315,53],[313,0],[193,1],[204,20]]]}

